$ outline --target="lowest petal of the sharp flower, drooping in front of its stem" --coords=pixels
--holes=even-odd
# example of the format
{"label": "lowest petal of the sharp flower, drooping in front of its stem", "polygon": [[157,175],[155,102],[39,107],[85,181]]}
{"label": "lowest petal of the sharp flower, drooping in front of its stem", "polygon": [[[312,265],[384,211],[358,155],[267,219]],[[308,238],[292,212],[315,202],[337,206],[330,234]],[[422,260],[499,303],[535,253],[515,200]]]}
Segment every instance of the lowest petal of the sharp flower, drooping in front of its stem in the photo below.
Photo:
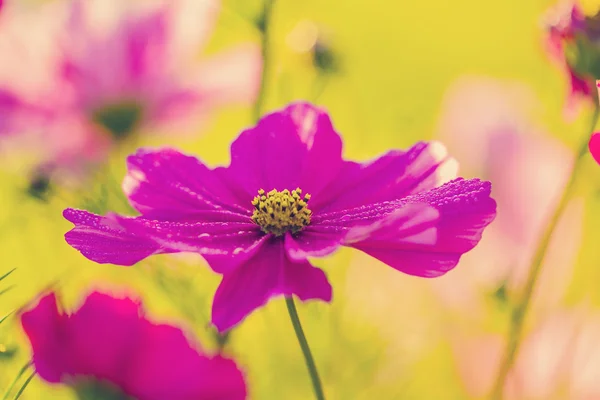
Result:
{"label": "lowest petal of the sharp flower, drooping in front of its stem", "polygon": [[279,295],[330,301],[331,285],[325,273],[307,261],[290,261],[283,242],[273,239],[252,259],[223,275],[213,301],[213,324],[226,331]]}

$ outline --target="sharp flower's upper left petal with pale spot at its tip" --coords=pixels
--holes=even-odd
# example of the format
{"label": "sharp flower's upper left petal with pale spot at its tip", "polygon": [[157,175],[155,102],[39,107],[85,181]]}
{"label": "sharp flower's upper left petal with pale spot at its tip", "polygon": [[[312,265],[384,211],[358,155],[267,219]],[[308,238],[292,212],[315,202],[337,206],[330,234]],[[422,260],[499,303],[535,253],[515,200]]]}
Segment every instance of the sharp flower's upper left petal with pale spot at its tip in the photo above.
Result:
{"label": "sharp flower's upper left petal with pale spot at its tip", "polygon": [[123,190],[145,216],[165,219],[200,210],[252,215],[250,202],[236,204],[223,180],[197,158],[173,149],[140,149],[127,158]]}

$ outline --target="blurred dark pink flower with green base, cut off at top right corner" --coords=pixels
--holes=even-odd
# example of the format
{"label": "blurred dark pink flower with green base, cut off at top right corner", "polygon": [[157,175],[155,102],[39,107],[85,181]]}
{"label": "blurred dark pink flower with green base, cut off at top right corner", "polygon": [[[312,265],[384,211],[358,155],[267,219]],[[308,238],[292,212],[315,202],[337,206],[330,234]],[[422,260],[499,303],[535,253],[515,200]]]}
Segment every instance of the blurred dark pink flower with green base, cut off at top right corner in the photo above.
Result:
{"label": "blurred dark pink flower with green base, cut off at top right corner", "polygon": [[545,16],[549,55],[565,68],[570,85],[566,112],[580,100],[595,102],[594,81],[600,78],[600,8],[585,15],[576,2],[561,2]]}

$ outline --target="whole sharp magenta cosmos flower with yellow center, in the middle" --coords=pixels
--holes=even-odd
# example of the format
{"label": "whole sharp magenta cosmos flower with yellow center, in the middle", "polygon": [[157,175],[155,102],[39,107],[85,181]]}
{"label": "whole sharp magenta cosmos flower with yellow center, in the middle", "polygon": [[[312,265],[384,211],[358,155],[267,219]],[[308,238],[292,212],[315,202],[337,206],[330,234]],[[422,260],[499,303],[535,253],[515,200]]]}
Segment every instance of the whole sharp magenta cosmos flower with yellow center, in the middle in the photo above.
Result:
{"label": "whole sharp magenta cosmos flower with yellow center, in the middle", "polygon": [[308,259],[339,246],[410,275],[440,276],[496,214],[489,182],[450,180],[456,163],[441,144],[346,161],[328,115],[306,103],[242,132],[227,167],[211,169],[171,149],[141,149],[127,165],[123,188],[141,215],[67,209],[75,225],[67,242],[93,261],[119,265],[201,254],[223,275],[212,313],[221,331],[277,295],[330,301],[331,285]]}

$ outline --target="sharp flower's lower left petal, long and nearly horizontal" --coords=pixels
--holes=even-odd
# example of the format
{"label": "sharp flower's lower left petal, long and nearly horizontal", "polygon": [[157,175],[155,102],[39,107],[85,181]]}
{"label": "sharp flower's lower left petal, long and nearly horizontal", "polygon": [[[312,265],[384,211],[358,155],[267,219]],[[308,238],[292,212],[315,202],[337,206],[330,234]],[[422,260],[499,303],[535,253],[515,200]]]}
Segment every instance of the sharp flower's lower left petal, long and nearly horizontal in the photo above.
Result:
{"label": "sharp flower's lower left petal, long and nearly horizontal", "polygon": [[102,217],[73,209],[64,216],[75,224],[65,235],[67,242],[99,263],[133,265],[152,254],[195,252],[223,272],[251,257],[268,239],[256,225],[227,221],[227,214],[215,212],[197,214],[195,222]]}

